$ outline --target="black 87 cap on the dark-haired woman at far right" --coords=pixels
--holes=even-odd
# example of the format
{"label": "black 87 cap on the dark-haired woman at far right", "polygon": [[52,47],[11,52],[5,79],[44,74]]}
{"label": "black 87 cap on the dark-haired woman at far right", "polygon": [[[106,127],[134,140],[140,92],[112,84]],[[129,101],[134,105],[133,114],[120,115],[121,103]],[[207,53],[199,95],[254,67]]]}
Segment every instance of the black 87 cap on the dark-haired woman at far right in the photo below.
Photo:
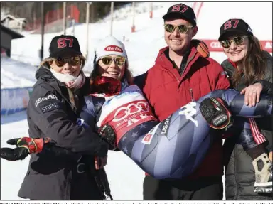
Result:
{"label": "black 87 cap on the dark-haired woman at far right", "polygon": [[253,36],[252,29],[242,19],[229,19],[220,27],[219,41],[226,40],[230,36]]}

